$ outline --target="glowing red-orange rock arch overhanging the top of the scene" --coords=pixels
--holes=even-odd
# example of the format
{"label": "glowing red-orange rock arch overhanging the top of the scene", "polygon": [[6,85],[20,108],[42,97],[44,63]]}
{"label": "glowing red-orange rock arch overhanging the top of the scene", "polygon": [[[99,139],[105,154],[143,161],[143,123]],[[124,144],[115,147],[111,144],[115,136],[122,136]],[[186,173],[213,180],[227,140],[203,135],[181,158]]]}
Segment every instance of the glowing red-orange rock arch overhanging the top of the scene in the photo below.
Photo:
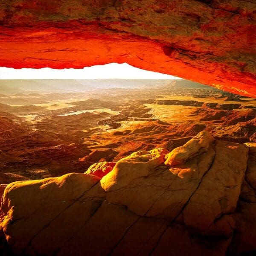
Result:
{"label": "glowing red-orange rock arch overhanging the top of the scene", "polygon": [[254,0],[0,1],[0,66],[127,62],[256,97]]}

